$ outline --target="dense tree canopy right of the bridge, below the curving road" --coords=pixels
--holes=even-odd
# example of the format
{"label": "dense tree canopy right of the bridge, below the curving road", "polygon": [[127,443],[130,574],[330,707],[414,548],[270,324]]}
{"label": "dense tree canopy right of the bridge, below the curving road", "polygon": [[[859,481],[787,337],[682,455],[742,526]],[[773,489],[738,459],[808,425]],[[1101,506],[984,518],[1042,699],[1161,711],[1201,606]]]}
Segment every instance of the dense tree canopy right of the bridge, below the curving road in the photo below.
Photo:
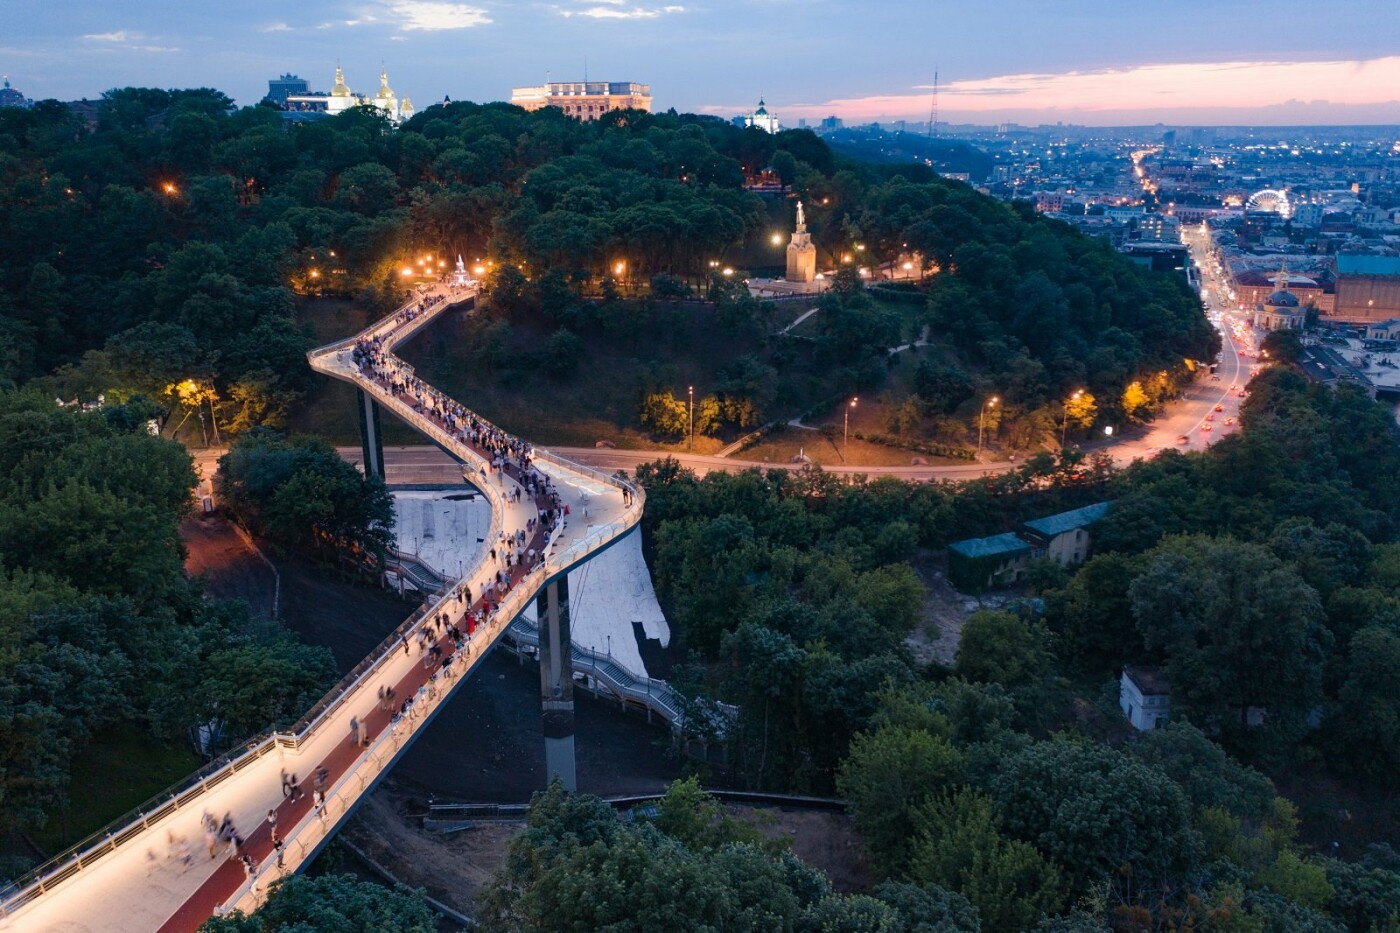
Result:
{"label": "dense tree canopy right of the bridge, below the curving road", "polygon": [[[966,485],[643,468],[693,653],[673,682],[697,721],[701,696],[738,706],[715,738],[741,780],[837,792],[876,877],[958,892],[984,930],[1394,930],[1400,430],[1287,370],[1242,419],[1204,452]],[[973,614],[952,665],[911,657],[921,548],[1102,500],[1088,563],[1032,567],[1039,608]],[[1123,723],[1123,664],[1169,679],[1169,727]]]}

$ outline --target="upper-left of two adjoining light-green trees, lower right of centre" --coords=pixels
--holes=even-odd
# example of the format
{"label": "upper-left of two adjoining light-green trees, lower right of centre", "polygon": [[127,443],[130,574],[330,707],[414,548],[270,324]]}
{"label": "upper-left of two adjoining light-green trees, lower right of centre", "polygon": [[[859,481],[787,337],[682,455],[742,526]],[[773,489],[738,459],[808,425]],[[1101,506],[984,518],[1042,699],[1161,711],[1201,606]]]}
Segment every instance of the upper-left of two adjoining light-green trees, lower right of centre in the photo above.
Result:
{"label": "upper-left of two adjoining light-green trees, lower right of centre", "polygon": [[[883,727],[862,733],[836,778],[871,862],[883,877],[909,870],[914,810],[925,797],[958,783],[962,755],[925,731]],[[928,878],[934,881],[935,878]]]}

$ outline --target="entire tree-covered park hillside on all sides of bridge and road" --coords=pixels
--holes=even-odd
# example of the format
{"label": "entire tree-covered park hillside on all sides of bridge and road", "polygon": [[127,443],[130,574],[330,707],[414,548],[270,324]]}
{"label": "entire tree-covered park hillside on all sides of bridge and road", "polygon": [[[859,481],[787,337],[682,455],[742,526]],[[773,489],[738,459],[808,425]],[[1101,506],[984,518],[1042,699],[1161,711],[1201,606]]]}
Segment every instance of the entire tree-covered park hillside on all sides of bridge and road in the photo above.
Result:
{"label": "entire tree-covered park hillside on all sides of bridge and road", "polygon": [[[790,200],[743,189],[763,168],[836,269],[787,333],[795,314],[738,284],[777,270],[791,224]],[[1393,413],[1278,366],[1207,451],[1121,469],[1035,452],[1057,429],[1151,417],[1212,359],[1183,283],[923,168],[675,113],[451,104],[398,129],[365,111],[288,127],[217,91],[126,88],[92,126],[52,102],[0,112],[0,177],[8,841],[118,815],[81,790],[104,748],[169,752],[179,775],[192,731],[217,726],[218,751],[329,686],[328,651],[185,577],[182,441],[232,443],[225,489],[260,538],[372,572],[382,485],[288,433],[343,433],[325,423],[344,399],[304,354],[461,254],[487,298],[407,356],[531,440],[679,448],[693,385],[697,445],[858,394],[864,434],[948,457],[995,396],[994,444],[1030,451],[963,485],[638,468],[690,727],[727,747],[732,783],[843,797],[869,890],[833,894],[694,783],[640,821],[550,789],[484,925],[1400,927]],[[897,286],[860,273],[909,256]],[[949,542],[1099,502],[1088,562],[1033,565],[955,661],[917,660]],[[1173,684],[1166,727],[1121,720],[1123,664]],[[426,926],[419,899],[329,878],[211,929],[370,923],[354,918]]]}

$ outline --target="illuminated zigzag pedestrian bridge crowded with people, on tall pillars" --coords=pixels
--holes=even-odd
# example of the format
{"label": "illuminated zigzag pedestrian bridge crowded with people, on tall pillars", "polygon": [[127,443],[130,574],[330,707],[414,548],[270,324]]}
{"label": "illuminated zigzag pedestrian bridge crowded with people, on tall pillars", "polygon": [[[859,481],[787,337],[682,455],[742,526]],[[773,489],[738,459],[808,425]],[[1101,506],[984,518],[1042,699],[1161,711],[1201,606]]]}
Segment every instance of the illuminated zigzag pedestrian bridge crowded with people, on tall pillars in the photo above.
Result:
{"label": "illuminated zigzag pedestrian bridge crowded with people, on tall pillars", "polygon": [[[0,891],[0,930],[193,930],[211,915],[256,909],[270,883],[316,855],[532,600],[539,616],[535,642],[546,762],[552,775],[573,786],[567,573],[637,527],[644,493],[624,479],[504,434],[419,381],[412,367],[392,354],[395,346],[475,298],[475,289],[423,290],[395,314],[354,338],[314,350],[309,359],[316,371],[351,382],[363,394],[368,448],[377,444],[372,434],[378,408],[462,462],[463,478],[491,506],[482,553],[462,555],[462,579],[444,584],[295,726],[270,731],[210,762],[127,818]],[[377,356],[365,364],[363,347],[374,343]],[[372,468],[377,459],[371,454],[367,465]],[[540,521],[550,511],[567,514],[550,527]],[[525,559],[507,567],[503,542],[517,532],[524,538],[519,551]],[[490,542],[497,548],[494,562]],[[500,573],[507,573],[510,583],[504,593],[497,588],[487,600],[489,584]],[[470,612],[484,615],[456,650],[438,619],[465,636]],[[430,644],[440,649],[441,667],[431,653],[420,653],[420,637],[426,639],[424,650]],[[616,681],[620,692],[645,693],[658,712],[672,712],[669,692],[661,699],[661,688],[652,684],[627,682],[615,671],[599,674]],[[396,702],[413,699],[407,714],[392,716],[382,709],[379,693],[385,688],[393,689]],[[351,740],[354,724],[361,728],[363,744]],[[304,796],[284,796],[283,772],[301,779]],[[318,772],[325,775],[323,804],[312,800]],[[221,850],[210,856],[202,827],[206,811],[216,820],[231,814],[246,839],[244,852],[256,862],[251,877],[237,857]],[[269,811],[283,839],[280,864]]]}

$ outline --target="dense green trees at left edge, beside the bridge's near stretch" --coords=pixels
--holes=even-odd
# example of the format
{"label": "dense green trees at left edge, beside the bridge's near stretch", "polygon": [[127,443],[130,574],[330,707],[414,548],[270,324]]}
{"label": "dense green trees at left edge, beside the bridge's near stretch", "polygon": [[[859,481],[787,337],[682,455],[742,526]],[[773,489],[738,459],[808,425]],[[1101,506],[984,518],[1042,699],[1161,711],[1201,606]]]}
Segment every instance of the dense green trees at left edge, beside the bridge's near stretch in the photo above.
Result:
{"label": "dense green trees at left edge, beside the bridge's near stretch", "polygon": [[102,730],[221,749],[335,679],[329,651],[185,576],[190,457],[129,415],[0,392],[0,832],[42,827]]}

